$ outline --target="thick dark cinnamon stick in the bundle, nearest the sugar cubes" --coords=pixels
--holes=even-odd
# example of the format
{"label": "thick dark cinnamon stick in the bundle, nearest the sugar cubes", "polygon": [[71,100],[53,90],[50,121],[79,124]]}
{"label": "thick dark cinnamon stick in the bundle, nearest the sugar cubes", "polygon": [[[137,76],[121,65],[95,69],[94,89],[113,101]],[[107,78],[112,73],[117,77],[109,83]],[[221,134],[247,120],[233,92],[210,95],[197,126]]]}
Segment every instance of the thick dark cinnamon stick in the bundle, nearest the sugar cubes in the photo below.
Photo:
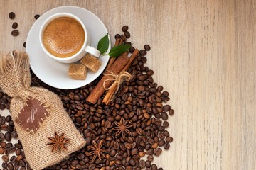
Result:
{"label": "thick dark cinnamon stick in the bundle, nearest the sugar cubes", "polygon": [[[122,69],[127,65],[129,62],[129,57],[127,57],[127,52],[122,54],[120,57],[115,60],[115,62],[112,64],[110,69],[108,69],[113,74],[119,74]],[[92,90],[90,95],[87,97],[86,101],[95,104],[97,100],[104,94],[105,89],[103,87],[103,84],[105,82],[105,87],[108,88],[112,84],[112,81],[105,81],[107,79],[112,79],[112,76],[110,75],[104,75],[102,79],[97,83],[95,88]]]}

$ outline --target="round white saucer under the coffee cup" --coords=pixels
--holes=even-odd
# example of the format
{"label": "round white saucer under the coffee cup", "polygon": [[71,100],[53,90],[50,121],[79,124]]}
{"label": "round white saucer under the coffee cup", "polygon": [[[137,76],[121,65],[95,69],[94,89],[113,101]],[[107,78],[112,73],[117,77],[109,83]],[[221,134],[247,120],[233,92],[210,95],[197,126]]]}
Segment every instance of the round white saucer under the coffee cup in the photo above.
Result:
{"label": "round white saucer under the coffee cup", "polygon": [[[43,21],[54,13],[67,12],[72,13],[81,19],[91,35],[91,46],[97,48],[97,42],[107,34],[107,28],[104,23],[94,13],[85,8],[77,6],[60,6],[40,16],[31,27],[26,40],[26,52],[28,53],[31,69],[41,81],[58,89],[76,89],[86,84],[90,84],[103,72],[110,59],[108,55],[100,57],[102,65],[100,69],[93,73],[88,70],[85,80],[74,80],[68,77],[69,64],[57,62],[46,55],[39,42],[39,30]],[[109,37],[110,38],[110,37]],[[107,52],[109,52],[111,45]],[[106,52],[106,53],[107,53]]]}

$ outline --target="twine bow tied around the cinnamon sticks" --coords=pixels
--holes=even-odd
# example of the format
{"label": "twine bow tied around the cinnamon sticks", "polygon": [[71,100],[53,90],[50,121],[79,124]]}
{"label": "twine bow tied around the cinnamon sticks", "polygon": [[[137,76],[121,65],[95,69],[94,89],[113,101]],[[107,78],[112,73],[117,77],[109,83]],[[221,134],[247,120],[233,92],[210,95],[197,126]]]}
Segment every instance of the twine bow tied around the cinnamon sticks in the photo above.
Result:
{"label": "twine bow tied around the cinnamon sticks", "polygon": [[[104,75],[105,75],[105,76],[111,76],[111,77],[113,77],[113,78],[106,79],[106,80],[103,82],[103,87],[104,87],[105,90],[110,90],[110,89],[112,89],[114,86],[117,86],[117,89],[116,89],[116,91],[114,92],[114,95],[117,94],[117,91],[119,90],[120,84],[122,84],[122,82],[123,82],[124,80],[129,81],[129,79],[131,79],[131,77],[132,77],[132,75],[129,74],[129,72],[125,72],[125,71],[122,71],[122,72],[120,72],[119,74],[114,74],[113,72],[110,72],[109,70],[107,70],[107,72],[109,72],[109,73],[104,73]],[[109,86],[108,88],[106,88],[105,83],[106,83],[107,81],[114,81],[114,83],[113,83],[111,86]]]}

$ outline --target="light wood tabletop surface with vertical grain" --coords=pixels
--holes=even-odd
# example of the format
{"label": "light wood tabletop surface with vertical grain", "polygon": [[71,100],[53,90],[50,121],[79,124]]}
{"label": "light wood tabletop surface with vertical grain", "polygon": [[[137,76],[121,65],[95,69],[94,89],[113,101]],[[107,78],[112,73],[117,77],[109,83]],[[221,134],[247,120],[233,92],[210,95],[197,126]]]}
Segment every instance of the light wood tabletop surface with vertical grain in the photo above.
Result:
{"label": "light wood tabletop surface with vertical grain", "polygon": [[[1,0],[1,52],[24,50],[33,16],[63,5],[99,16],[112,43],[128,25],[135,47],[151,45],[147,65],[175,111],[174,142],[154,159],[157,166],[256,169],[256,1]],[[11,35],[14,21],[18,37]]]}

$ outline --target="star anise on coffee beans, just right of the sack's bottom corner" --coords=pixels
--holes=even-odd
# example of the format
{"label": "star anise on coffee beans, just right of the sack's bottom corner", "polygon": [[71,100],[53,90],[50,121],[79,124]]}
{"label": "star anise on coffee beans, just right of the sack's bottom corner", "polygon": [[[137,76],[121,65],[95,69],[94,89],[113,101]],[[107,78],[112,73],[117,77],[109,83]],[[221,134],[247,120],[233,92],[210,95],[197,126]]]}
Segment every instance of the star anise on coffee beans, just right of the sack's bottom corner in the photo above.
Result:
{"label": "star anise on coffee beans, just right of the sack's bottom corner", "polygon": [[102,152],[108,152],[109,149],[102,149],[102,145],[103,145],[104,140],[100,140],[98,143],[95,142],[95,140],[92,141],[92,145],[88,146],[87,148],[92,150],[91,152],[89,152],[88,156],[93,155],[92,157],[92,162],[95,161],[96,157],[98,157],[101,160],[101,157],[105,158],[105,154],[103,154]]}

